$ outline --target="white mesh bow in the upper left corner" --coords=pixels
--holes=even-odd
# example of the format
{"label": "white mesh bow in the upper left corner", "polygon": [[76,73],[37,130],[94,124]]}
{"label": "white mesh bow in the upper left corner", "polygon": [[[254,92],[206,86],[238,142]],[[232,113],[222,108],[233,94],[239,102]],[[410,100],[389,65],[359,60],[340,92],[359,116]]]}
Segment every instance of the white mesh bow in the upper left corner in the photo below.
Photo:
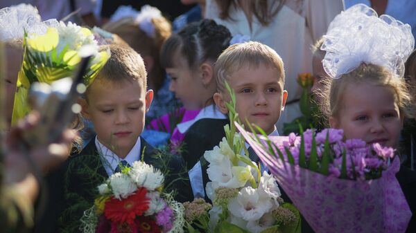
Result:
{"label": "white mesh bow in the upper left corner", "polygon": [[37,32],[37,26],[42,19],[37,8],[21,3],[10,8],[0,10],[0,41],[22,39],[24,30]]}

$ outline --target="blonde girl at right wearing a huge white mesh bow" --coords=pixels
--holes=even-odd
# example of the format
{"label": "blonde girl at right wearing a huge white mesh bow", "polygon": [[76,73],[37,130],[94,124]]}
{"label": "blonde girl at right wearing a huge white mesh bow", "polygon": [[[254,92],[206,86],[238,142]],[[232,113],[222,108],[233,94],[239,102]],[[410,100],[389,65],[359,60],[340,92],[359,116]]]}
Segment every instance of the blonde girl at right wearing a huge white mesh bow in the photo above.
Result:
{"label": "blonde girl at right wearing a huge white mesh bow", "polygon": [[[333,78],[323,104],[330,126],[343,129],[346,139],[398,149],[411,100],[403,79],[403,61],[414,46],[410,26],[386,15],[379,18],[359,4],[329,28],[321,48],[327,51],[324,69]],[[415,232],[416,174],[401,166],[396,176],[413,212],[408,232]]]}

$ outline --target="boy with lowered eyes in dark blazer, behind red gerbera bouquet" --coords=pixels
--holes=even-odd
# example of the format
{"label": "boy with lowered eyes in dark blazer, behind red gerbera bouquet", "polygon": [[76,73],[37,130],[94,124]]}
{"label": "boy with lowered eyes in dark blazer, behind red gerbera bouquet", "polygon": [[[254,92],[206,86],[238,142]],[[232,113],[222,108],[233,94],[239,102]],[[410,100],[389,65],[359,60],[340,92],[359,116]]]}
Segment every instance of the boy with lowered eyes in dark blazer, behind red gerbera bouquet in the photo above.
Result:
{"label": "boy with lowered eyes in dark blazer, behind red gerbera bouquet", "polygon": [[[69,158],[64,174],[66,208],[60,224],[66,232],[78,230],[83,212],[94,204],[97,185],[120,165],[129,166],[137,160],[157,168],[166,164],[153,158],[155,149],[140,137],[153,99],[153,91],[146,91],[143,59],[130,47],[112,44],[104,48],[110,49],[111,57],[87,88],[85,99],[80,100],[82,113],[92,121],[97,135],[83,151]],[[177,179],[182,166],[182,161],[172,158],[168,163],[172,175],[166,176],[166,183]],[[187,192],[182,181],[174,185],[182,189],[180,194]]]}

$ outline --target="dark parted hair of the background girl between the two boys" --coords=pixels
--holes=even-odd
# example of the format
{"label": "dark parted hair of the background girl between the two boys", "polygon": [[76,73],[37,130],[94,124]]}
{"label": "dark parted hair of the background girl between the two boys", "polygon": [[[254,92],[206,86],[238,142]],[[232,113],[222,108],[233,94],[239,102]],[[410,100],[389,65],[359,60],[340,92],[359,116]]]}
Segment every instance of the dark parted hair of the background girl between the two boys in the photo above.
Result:
{"label": "dark parted hair of the background girl between the two boys", "polygon": [[161,63],[164,68],[173,67],[176,51],[180,51],[190,68],[196,68],[203,62],[213,62],[229,46],[231,33],[225,26],[214,20],[202,19],[180,30],[167,39],[161,50]]}

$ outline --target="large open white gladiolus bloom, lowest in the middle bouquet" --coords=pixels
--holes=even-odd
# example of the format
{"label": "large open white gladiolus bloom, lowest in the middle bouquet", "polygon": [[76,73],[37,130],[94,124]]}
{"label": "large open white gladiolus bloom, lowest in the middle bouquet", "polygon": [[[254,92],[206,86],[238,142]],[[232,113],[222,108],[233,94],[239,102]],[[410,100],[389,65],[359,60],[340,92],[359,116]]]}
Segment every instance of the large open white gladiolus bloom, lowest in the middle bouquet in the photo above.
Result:
{"label": "large open white gladiolus bloom, lowest in the middle bouquet", "polygon": [[232,198],[227,207],[234,216],[245,221],[256,221],[272,208],[270,198],[261,198],[257,189],[243,187],[236,198]]}

